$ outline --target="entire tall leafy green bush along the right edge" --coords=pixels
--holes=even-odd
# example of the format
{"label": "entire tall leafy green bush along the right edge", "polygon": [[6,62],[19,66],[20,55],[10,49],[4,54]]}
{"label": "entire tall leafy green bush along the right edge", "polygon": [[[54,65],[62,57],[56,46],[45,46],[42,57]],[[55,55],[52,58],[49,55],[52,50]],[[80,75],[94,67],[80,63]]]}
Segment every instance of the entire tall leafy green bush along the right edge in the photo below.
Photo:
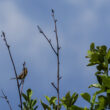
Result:
{"label": "entire tall leafy green bush along the right edge", "polygon": [[[110,49],[107,49],[105,45],[96,46],[91,43],[90,50],[88,50],[89,64],[87,66],[96,66],[97,72],[95,76],[98,83],[89,86],[98,88],[91,99],[88,94],[81,94],[81,96],[91,103],[91,110],[105,110],[110,108],[110,76],[109,76],[109,65],[110,65]],[[105,96],[100,95],[104,93]],[[98,102],[96,102],[96,97],[98,97]]]}

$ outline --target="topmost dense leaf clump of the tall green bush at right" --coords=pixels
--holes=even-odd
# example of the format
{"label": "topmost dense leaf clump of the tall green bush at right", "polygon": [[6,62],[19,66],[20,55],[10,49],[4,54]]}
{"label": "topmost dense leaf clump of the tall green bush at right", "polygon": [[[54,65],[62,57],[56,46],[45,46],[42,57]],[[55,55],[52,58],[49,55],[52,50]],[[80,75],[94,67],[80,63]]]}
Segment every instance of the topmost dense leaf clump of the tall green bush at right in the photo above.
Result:
{"label": "topmost dense leaf clump of the tall green bush at right", "polygon": [[89,64],[87,66],[96,65],[98,72],[107,72],[108,64],[110,64],[110,49],[107,50],[105,45],[97,46],[95,48],[95,44],[91,43],[86,58],[89,58]]}

